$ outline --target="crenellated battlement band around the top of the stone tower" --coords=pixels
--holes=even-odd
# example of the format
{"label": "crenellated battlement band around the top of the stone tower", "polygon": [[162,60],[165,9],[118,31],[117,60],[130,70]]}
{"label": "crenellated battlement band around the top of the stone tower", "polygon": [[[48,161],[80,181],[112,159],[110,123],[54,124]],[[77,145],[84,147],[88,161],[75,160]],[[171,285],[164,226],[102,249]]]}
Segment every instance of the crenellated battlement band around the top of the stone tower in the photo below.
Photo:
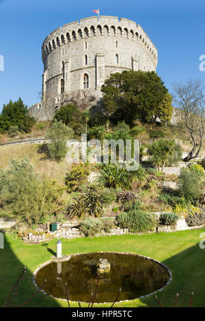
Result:
{"label": "crenellated battlement band around the top of the stone tower", "polygon": [[[111,31],[113,32],[111,33]],[[119,19],[115,16],[100,16],[100,19],[98,19],[98,16],[91,16],[55,29],[42,44],[42,60],[44,61],[46,55],[49,55],[57,46],[97,36],[97,34],[98,36],[105,36],[105,33],[107,36],[111,36],[111,34],[114,37],[120,35],[122,38],[137,41],[154,60],[154,64],[157,64],[156,47],[142,27],[132,20]]]}

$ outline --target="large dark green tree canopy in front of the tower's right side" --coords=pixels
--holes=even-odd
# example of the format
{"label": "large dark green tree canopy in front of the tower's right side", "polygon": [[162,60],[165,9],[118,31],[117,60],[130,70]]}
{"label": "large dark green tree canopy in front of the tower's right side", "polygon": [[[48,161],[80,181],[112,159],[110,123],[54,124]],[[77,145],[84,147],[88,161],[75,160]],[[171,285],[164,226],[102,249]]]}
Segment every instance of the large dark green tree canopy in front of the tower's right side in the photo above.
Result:
{"label": "large dark green tree canopy in front of the tower's right side", "polygon": [[156,72],[123,71],[111,74],[101,89],[102,102],[109,115],[132,123],[149,122],[152,117],[168,121],[172,115],[172,96]]}

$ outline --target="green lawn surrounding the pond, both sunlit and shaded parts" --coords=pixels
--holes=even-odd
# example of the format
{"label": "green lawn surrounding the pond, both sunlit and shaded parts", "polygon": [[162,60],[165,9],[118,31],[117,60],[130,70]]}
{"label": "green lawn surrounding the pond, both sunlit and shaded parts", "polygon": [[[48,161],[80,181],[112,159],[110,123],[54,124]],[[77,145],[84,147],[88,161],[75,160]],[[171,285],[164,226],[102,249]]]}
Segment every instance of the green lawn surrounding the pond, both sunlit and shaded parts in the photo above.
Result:
{"label": "green lawn surrounding the pond, both sunlit and shaded parts", "polygon": [[[205,307],[205,249],[199,247],[200,233],[205,229],[161,233],[150,235],[105,236],[62,240],[63,254],[94,251],[127,251],[147,255],[160,260],[171,270],[173,281],[159,292],[159,300],[164,307],[174,305],[176,292],[180,293],[178,305],[189,304],[194,292],[193,307]],[[49,249],[55,251],[56,239],[49,242]],[[51,252],[42,245],[25,245],[22,240],[7,236],[5,249],[0,250],[0,307],[14,285],[18,275],[27,266],[27,273],[12,306],[16,306],[35,292],[31,275],[40,264],[51,258]],[[76,306],[72,304],[72,306]],[[96,305],[106,306],[106,305]],[[154,296],[142,300],[119,303],[116,307],[157,307]],[[27,307],[67,307],[65,301],[55,300],[38,294]]]}

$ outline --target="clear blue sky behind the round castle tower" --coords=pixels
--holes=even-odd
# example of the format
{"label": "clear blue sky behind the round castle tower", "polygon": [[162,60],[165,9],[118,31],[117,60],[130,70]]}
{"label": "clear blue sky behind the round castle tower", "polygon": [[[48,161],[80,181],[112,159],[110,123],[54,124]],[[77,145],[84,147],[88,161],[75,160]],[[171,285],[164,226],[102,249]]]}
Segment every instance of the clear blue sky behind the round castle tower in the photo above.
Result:
{"label": "clear blue sky behind the round castle tower", "polygon": [[41,46],[57,27],[100,14],[136,21],[159,52],[156,72],[172,93],[172,84],[202,79],[199,57],[205,55],[204,0],[0,0],[0,109],[20,96],[28,106],[39,101],[43,66]]}

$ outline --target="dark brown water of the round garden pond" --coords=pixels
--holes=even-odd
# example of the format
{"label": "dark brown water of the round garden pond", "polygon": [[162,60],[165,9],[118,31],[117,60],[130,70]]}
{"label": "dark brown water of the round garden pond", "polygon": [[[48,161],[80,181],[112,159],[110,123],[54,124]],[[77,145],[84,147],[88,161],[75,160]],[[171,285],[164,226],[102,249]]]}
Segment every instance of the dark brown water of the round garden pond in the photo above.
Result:
{"label": "dark brown water of the round garden pond", "polygon": [[[97,274],[100,259],[111,264],[108,272]],[[132,300],[163,288],[171,277],[160,262],[133,253],[81,253],[71,255],[64,262],[50,262],[35,273],[39,288],[55,298],[66,299],[66,283],[69,300],[90,302],[98,279],[96,303]],[[44,280],[47,280],[44,283]],[[43,285],[43,286],[42,286]]]}

